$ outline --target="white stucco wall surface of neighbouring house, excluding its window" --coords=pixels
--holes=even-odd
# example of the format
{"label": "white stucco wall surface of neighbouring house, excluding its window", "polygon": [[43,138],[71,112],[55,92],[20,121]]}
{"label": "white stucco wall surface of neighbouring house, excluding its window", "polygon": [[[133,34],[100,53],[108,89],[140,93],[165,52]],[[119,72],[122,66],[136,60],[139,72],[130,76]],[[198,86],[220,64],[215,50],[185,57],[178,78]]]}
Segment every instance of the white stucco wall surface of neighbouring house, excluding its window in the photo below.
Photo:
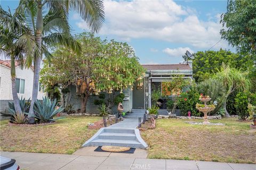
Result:
{"label": "white stucco wall surface of neighbouring house, excluding its window", "polygon": [[[12,100],[12,84],[11,84],[11,69],[0,65],[0,76],[1,76],[1,84],[0,84],[0,100]],[[25,80],[25,92],[24,94],[18,94],[19,97],[25,97],[26,99],[32,97],[32,89],[33,89],[33,79],[34,72],[31,68],[23,70],[20,66],[16,67],[16,78]],[[41,91],[38,92],[38,99],[42,99],[45,96],[45,93]]]}

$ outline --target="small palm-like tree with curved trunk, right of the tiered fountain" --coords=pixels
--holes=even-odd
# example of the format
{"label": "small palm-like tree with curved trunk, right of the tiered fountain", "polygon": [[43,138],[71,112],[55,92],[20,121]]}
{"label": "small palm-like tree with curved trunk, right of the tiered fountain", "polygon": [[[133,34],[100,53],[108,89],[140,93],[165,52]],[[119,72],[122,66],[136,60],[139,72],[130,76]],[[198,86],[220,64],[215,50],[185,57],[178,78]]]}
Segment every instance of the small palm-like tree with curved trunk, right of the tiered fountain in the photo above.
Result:
{"label": "small palm-like tree with curved trunk, right of the tiered fountain", "polygon": [[250,80],[247,79],[247,72],[242,72],[235,68],[230,68],[229,65],[222,64],[221,70],[214,75],[214,79],[222,82],[223,86],[226,88],[227,92],[223,102],[223,108],[226,112],[226,116],[230,117],[227,111],[227,98],[236,89],[238,90],[249,90]]}

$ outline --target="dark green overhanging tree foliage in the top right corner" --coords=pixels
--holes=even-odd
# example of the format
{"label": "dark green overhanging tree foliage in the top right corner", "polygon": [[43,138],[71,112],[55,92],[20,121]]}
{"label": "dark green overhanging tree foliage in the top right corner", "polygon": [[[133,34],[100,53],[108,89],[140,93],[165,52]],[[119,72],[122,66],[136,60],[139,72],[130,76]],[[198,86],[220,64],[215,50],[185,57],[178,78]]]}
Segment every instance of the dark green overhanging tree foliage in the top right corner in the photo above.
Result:
{"label": "dark green overhanging tree foliage in the top right corner", "polygon": [[256,3],[254,0],[230,0],[227,12],[221,15],[226,29],[220,31],[221,38],[245,54],[256,52]]}

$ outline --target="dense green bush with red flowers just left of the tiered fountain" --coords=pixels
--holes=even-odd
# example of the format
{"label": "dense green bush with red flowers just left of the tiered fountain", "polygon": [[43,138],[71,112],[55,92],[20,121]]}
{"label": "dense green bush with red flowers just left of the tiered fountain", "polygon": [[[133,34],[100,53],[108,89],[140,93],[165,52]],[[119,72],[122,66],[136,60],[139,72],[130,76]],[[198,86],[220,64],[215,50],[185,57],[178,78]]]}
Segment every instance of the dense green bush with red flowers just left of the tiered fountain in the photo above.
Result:
{"label": "dense green bush with red flowers just left of the tiered fountain", "polygon": [[196,104],[199,103],[199,93],[194,87],[190,90],[182,92],[180,96],[177,97],[177,106],[180,108],[182,116],[188,116],[188,111],[191,112],[193,116],[200,116],[200,113],[196,109]]}

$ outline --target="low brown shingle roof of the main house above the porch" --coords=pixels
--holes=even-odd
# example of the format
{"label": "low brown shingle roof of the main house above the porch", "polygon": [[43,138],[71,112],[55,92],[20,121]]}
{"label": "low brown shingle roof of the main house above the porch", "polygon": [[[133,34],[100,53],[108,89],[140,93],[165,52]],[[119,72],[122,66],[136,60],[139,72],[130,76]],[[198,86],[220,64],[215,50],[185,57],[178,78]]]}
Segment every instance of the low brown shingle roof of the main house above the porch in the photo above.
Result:
{"label": "low brown shingle roof of the main house above the porch", "polygon": [[142,64],[147,70],[191,70],[188,64]]}

